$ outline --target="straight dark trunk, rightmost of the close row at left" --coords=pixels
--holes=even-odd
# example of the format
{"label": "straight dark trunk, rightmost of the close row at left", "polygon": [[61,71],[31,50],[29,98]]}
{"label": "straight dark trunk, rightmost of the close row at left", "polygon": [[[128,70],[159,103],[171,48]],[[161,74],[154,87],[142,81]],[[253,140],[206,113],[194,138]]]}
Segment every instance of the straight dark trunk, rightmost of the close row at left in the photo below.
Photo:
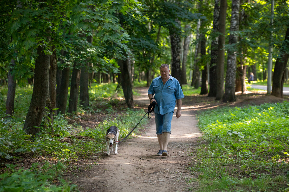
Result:
{"label": "straight dark trunk, rightmost of the close row at left", "polygon": [[86,66],[81,68],[80,80],[79,80],[79,103],[84,107],[89,106],[89,96],[88,96],[88,62]]}

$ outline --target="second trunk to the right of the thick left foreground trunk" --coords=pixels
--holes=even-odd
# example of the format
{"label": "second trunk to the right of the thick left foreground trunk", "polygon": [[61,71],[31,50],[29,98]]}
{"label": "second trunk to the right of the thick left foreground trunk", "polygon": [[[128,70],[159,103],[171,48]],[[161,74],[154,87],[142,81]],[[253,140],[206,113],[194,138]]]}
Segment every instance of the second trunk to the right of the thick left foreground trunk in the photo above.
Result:
{"label": "second trunk to the right of the thick left foreground trunk", "polygon": [[66,67],[62,70],[61,84],[59,99],[57,101],[57,113],[65,114],[67,98],[68,98],[68,87],[69,87],[70,67]]}

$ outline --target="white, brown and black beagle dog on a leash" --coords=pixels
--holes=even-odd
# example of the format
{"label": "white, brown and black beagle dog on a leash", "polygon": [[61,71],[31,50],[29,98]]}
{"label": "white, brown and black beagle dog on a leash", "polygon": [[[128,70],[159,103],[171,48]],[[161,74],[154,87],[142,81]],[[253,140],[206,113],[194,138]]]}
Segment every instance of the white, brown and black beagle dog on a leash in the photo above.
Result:
{"label": "white, brown and black beagle dog on a leash", "polygon": [[118,136],[119,136],[119,130],[116,126],[111,126],[107,131],[106,131],[106,155],[110,155],[110,153],[113,153],[113,148],[112,144],[115,144],[115,150],[114,150],[114,155],[117,155],[117,143],[118,141]]}

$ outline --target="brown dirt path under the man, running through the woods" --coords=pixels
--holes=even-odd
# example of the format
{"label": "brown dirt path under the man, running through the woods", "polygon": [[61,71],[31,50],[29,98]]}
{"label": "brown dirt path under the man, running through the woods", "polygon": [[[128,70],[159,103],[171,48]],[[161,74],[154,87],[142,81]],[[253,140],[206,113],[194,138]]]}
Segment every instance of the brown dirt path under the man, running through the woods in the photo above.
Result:
{"label": "brown dirt path under the man, running through the woods", "polygon": [[[134,101],[149,104],[147,88],[139,89],[141,96]],[[118,145],[118,155],[106,156],[97,160],[97,166],[85,171],[72,180],[77,182],[81,191],[188,191],[194,183],[186,184],[191,175],[186,168],[194,161],[194,146],[199,145],[200,131],[196,127],[194,109],[183,106],[181,117],[172,120],[171,138],[168,144],[168,156],[158,156],[158,140],[155,134],[154,115],[145,134],[127,139]],[[132,125],[132,128],[134,126]]]}

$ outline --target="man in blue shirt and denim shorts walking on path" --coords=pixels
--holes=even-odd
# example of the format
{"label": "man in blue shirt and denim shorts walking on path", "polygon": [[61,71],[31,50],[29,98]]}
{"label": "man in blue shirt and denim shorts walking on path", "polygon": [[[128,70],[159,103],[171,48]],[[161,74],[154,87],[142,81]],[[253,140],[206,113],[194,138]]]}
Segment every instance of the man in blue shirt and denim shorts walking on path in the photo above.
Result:
{"label": "man in blue shirt and denim shorts walking on path", "polygon": [[[157,102],[155,107],[155,127],[160,150],[157,155],[167,156],[167,146],[171,134],[171,121],[177,100],[177,119],[181,116],[181,99],[184,98],[179,81],[170,75],[168,64],[160,67],[161,76],[153,79],[149,86],[151,103]],[[155,97],[153,97],[155,95]]]}

